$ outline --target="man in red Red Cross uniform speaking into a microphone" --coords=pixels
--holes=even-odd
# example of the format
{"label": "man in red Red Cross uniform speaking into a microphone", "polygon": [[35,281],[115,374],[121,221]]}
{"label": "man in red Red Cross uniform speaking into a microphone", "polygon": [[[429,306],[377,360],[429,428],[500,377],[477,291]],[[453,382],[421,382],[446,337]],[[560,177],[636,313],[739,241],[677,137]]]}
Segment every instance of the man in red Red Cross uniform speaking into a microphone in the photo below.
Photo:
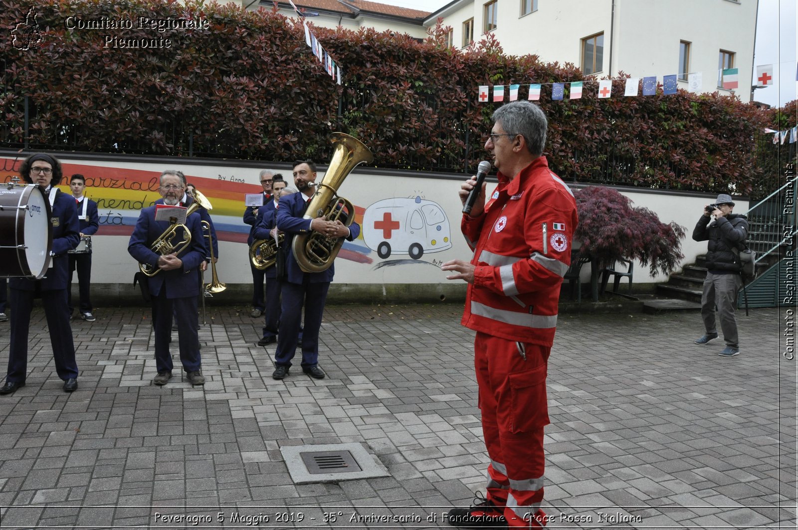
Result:
{"label": "man in red Red Cross uniform speaking into a microphone", "polygon": [[[468,282],[462,324],[476,330],[474,364],[488,456],[487,497],[453,508],[456,526],[537,528],[546,524],[543,426],[548,424],[546,374],[557,324],[559,287],[571,264],[576,229],[573,193],[543,156],[547,121],[529,101],[493,113],[485,142],[499,186],[485,186],[463,216],[471,262],[442,265]],[[460,186],[460,200],[476,186]]]}

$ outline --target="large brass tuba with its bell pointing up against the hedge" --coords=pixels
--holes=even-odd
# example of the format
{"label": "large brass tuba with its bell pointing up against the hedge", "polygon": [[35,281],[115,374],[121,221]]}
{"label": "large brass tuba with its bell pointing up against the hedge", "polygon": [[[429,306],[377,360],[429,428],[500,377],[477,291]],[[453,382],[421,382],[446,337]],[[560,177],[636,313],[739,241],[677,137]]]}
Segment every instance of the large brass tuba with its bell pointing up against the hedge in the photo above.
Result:
{"label": "large brass tuba with its bell pointing up against the hedge", "polygon": [[[330,141],[334,145],[333,158],[321,184],[310,200],[304,219],[324,217],[328,221],[341,220],[345,226],[354,221],[354,206],[349,200],[338,196],[346,176],[363,162],[369,164],[373,155],[360,140],[344,133],[333,133]],[[328,237],[317,231],[294,235],[291,251],[302,271],[322,272],[333,264],[335,256],[344,244],[342,237]]]}

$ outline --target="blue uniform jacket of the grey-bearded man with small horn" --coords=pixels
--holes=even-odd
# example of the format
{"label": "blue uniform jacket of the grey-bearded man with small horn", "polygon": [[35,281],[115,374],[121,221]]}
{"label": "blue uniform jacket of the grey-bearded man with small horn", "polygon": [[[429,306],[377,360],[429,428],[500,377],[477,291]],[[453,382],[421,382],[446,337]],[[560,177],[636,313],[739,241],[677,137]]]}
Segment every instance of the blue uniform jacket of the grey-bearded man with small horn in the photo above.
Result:
{"label": "blue uniform jacket of the grey-bearded man with small horn", "polygon": [[[128,252],[139,263],[149,263],[152,267],[158,266],[158,258],[155,252],[150,250],[152,242],[169,227],[167,221],[155,220],[155,206],[144,208],[141,211],[139,220],[136,221],[136,228],[130,236]],[[199,263],[205,259],[205,245],[203,243],[203,232],[200,226],[200,217],[197,213],[192,213],[186,219],[186,227],[192,233],[192,242],[188,247],[178,253],[177,257],[183,260],[183,267],[174,271],[160,271],[149,279],[149,291],[152,296],[160,293],[161,287],[166,286],[166,298],[186,298],[199,295],[199,284],[197,283],[197,271]],[[178,230],[177,238],[182,239],[183,234]]]}

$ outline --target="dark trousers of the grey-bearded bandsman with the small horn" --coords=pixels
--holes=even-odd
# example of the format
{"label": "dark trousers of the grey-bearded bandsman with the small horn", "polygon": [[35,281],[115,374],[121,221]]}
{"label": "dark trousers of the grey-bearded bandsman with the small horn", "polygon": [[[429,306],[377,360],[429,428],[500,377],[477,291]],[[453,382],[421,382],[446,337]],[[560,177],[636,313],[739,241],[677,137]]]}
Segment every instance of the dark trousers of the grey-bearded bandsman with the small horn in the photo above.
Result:
{"label": "dark trousers of the grey-bearded bandsman with the small horn", "polygon": [[155,327],[155,364],[159,372],[172,371],[172,354],[169,339],[172,338],[172,311],[177,322],[177,338],[180,344],[180,362],[183,370],[195,372],[202,368],[199,358],[199,335],[197,334],[196,296],[168,299],[165,289],[152,297],[152,325]]}

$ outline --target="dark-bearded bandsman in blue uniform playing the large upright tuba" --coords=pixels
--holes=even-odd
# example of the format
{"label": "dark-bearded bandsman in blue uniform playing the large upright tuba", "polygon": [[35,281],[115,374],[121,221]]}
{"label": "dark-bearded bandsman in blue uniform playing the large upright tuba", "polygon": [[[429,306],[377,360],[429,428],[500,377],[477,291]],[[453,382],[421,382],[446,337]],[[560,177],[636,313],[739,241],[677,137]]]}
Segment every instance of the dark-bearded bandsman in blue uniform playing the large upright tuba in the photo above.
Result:
{"label": "dark-bearded bandsman in blue uniform playing the large upright tuba", "polygon": [[[316,164],[311,160],[294,162],[294,184],[299,193],[284,196],[277,209],[277,228],[286,232],[286,248],[290,249],[292,236],[308,231],[318,231],[330,237],[345,237],[352,241],[360,234],[358,223],[346,227],[340,220],[327,221],[323,217],[303,219],[307,202],[314,195],[308,183],[316,181]],[[291,236],[291,237],[288,237]],[[302,372],[312,378],[323,379],[326,373],[318,366],[318,330],[322,326],[324,303],[335,266],[326,271],[302,272],[289,251],[286,257],[286,281],[282,283],[282,316],[280,320],[275,372],[272,378],[282,379],[288,374],[291,359],[297,346],[302,305],[305,306],[305,329],[302,335]]]}

